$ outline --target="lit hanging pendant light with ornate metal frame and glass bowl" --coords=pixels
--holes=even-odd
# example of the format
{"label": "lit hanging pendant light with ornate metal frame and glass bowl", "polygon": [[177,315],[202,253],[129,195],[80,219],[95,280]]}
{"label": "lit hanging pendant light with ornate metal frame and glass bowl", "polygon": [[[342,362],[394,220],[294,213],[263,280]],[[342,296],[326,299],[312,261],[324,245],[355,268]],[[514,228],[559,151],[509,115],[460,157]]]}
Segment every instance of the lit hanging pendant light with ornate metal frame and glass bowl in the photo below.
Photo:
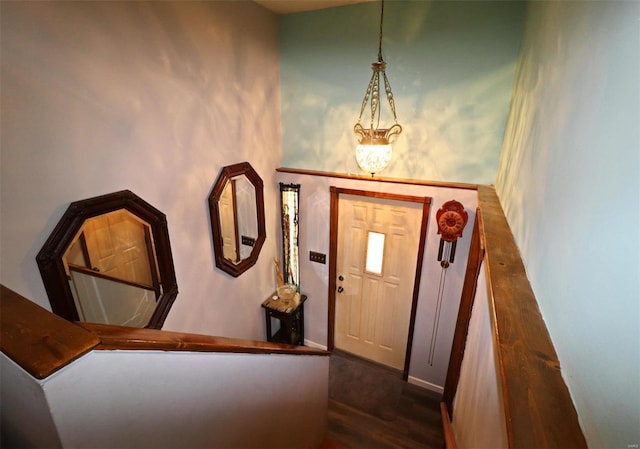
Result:
{"label": "lit hanging pendant light with ornate metal frame and glass bowl", "polygon": [[[378,41],[378,61],[371,64],[373,69],[373,75],[367,86],[367,91],[364,94],[364,100],[362,100],[362,107],[360,108],[360,116],[358,117],[358,123],[353,127],[353,131],[358,136],[358,146],[356,147],[356,161],[362,170],[367,173],[371,173],[373,176],[375,173],[383,170],[389,161],[391,161],[391,141],[392,137],[397,136],[402,132],[402,127],[398,123],[396,117],[396,106],[393,101],[393,93],[391,92],[391,85],[387,79],[385,73],[386,63],[382,59],[382,22],[384,19],[384,0],[381,1],[380,6],[380,38]],[[389,128],[380,128],[380,77],[384,83],[384,90],[389,101],[389,108],[393,114],[394,124]],[[360,123],[362,120],[362,114],[370,105],[370,125],[369,128],[365,128]],[[374,126],[375,122],[375,126]]]}

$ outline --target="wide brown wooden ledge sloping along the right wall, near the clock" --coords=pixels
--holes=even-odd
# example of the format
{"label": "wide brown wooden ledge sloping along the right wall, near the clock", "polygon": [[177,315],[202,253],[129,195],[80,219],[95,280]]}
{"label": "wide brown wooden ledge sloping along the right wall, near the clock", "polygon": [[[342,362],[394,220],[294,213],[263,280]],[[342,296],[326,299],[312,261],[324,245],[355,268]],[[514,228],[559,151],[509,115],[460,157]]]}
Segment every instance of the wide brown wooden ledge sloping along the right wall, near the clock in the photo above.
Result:
{"label": "wide brown wooden ledge sloping along the right wall, near the clock", "polygon": [[478,187],[478,207],[509,447],[585,448],[558,356],[493,187]]}

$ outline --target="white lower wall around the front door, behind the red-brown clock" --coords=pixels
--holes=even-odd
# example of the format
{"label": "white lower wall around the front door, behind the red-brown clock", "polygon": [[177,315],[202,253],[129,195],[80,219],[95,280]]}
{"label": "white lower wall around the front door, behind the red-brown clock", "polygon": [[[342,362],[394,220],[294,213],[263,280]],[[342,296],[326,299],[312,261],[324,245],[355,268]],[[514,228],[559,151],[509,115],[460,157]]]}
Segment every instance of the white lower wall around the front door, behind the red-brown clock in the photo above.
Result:
{"label": "white lower wall around the front door, behind the red-brown clock", "polygon": [[[279,173],[284,183],[300,184],[300,289],[308,296],[305,302],[305,339],[311,345],[326,347],[328,330],[329,288],[329,214],[330,186],[400,193],[432,198],[422,278],[416,313],[409,380],[425,388],[442,391],[446,378],[451,342],[460,304],[462,283],[467,266],[471,231],[475,220],[475,190],[426,187],[406,184],[370,182],[321,176]],[[440,236],[435,215],[442,204],[458,200],[469,214],[469,222],[458,241],[455,262],[447,268],[440,320],[433,337],[438,290],[442,268],[437,260]],[[327,255],[327,264],[309,261],[309,251]],[[435,353],[429,363],[429,348],[435,339]]]}

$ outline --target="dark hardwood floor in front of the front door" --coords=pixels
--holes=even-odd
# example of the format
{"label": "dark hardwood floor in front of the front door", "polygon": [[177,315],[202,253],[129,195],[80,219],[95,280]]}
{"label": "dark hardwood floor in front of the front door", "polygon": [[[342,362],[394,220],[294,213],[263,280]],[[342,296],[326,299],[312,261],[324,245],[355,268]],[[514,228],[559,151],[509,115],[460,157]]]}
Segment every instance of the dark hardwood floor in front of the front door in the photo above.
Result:
{"label": "dark hardwood floor in front of the front door", "polygon": [[444,446],[441,395],[399,371],[334,351],[329,385],[329,440],[348,449]]}

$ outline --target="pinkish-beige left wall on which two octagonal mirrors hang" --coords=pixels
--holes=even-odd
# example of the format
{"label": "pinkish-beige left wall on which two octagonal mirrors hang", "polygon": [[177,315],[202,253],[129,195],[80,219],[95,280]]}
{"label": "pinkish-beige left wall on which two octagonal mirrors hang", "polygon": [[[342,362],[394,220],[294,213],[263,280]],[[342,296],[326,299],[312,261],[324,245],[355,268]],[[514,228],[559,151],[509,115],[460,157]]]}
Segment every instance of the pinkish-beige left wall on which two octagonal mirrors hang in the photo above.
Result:
{"label": "pinkish-beige left wall on which two octagonal mirrors hang", "polygon": [[[167,215],[180,293],[166,329],[264,338],[280,165],[277,18],[238,2],[1,2],[0,281],[50,309],[35,256],[70,202],[130,189]],[[265,184],[267,240],[215,268],[222,166]],[[230,318],[232,317],[232,318]]]}

